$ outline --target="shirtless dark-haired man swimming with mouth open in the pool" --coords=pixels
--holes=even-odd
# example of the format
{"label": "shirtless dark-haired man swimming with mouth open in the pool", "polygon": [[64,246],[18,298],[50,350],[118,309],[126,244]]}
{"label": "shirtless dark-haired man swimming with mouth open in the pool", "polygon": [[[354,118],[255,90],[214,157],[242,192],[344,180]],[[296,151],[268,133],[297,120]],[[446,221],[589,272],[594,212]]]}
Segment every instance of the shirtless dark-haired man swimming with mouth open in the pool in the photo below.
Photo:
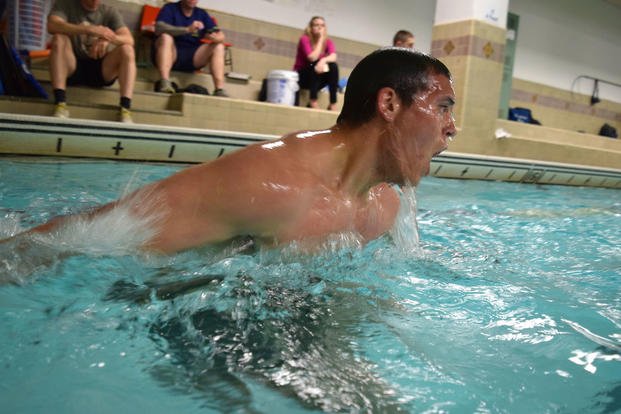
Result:
{"label": "shirtless dark-haired man swimming with mouth open in the pool", "polygon": [[454,103],[442,62],[380,49],[352,71],[331,128],[245,147],[16,237],[42,240],[123,210],[148,228],[137,247],[163,254],[238,237],[264,246],[341,233],[372,240],[395,222],[391,184],[416,185],[455,135]]}

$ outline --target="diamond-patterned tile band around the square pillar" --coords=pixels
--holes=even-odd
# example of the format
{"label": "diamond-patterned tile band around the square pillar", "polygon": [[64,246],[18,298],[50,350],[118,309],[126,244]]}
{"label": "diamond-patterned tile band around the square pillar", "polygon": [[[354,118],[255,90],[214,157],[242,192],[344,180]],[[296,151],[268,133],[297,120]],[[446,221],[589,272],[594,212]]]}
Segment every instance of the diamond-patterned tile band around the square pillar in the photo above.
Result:
{"label": "diamond-patterned tile band around the square pillar", "polygon": [[479,36],[465,35],[431,42],[431,55],[437,58],[473,56],[502,63],[505,45]]}

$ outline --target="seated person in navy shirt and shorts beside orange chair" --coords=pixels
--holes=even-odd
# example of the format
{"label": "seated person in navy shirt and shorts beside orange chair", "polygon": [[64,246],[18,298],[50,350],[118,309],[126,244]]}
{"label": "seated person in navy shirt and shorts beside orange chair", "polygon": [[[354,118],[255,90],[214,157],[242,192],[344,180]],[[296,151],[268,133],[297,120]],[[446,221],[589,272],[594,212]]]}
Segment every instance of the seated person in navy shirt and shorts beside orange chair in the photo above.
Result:
{"label": "seated person in navy shirt and shorts beside orange chair", "polygon": [[[155,22],[157,39],[153,59],[160,73],[158,92],[173,93],[170,71],[193,72],[209,65],[214,96],[228,96],[224,90],[224,33],[209,14],[196,7],[198,0],[179,0],[162,7]],[[209,39],[203,43],[201,39]]]}

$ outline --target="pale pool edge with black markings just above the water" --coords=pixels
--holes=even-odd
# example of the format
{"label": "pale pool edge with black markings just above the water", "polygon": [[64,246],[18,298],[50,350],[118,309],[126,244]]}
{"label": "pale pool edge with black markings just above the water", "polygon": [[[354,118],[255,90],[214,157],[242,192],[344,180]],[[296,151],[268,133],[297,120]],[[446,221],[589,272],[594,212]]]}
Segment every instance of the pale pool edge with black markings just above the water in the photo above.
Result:
{"label": "pale pool edge with black markings just above the water", "polygon": [[[247,145],[280,138],[248,132],[8,113],[0,113],[0,136],[0,154],[4,155],[184,164],[211,161]],[[612,154],[613,147],[609,149],[612,152],[608,154]],[[434,157],[430,174],[441,178],[621,188],[619,168],[450,151]]]}

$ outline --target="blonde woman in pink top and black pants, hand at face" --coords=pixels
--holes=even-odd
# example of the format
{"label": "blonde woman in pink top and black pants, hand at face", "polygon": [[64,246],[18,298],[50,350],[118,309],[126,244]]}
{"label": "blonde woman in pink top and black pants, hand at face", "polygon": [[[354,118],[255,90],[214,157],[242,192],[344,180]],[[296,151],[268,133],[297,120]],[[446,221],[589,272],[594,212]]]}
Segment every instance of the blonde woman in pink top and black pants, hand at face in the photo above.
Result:
{"label": "blonde woman in pink top and black pants, hand at face", "polygon": [[335,109],[339,67],[336,64],[336,49],[332,40],[328,39],[323,17],[313,17],[300,37],[293,70],[300,76],[300,88],[310,90],[309,107],[317,108],[317,92],[328,85],[330,89],[328,110]]}

